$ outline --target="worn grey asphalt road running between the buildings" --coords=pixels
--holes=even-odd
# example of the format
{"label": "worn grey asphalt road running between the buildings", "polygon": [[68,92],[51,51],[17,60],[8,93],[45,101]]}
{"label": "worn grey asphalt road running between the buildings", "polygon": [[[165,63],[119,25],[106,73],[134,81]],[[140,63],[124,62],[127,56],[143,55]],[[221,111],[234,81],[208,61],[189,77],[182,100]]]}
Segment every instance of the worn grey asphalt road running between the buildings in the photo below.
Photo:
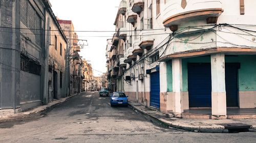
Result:
{"label": "worn grey asphalt road running between the buildings", "polygon": [[255,142],[256,133],[194,133],[161,126],[88,92],[24,121],[2,123],[0,142]]}

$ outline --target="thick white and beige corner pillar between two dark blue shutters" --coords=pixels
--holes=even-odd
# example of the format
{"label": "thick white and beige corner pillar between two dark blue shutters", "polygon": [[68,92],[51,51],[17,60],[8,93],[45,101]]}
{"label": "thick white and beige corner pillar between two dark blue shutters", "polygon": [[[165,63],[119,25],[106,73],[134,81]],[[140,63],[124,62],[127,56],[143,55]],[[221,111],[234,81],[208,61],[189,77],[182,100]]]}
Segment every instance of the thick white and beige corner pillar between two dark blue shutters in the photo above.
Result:
{"label": "thick white and beige corner pillar between two dark blue shutters", "polygon": [[224,53],[211,55],[211,114],[227,115]]}

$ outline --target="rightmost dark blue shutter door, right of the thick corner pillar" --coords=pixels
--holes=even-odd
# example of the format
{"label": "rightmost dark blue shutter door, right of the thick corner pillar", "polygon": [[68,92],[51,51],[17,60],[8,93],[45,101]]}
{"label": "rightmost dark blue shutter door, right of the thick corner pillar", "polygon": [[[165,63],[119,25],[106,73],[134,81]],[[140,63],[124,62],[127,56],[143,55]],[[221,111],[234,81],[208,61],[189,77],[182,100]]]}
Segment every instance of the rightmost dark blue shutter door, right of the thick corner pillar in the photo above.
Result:
{"label": "rightmost dark blue shutter door, right of the thick corner pillar", "polygon": [[227,107],[238,107],[238,68],[237,63],[225,65]]}

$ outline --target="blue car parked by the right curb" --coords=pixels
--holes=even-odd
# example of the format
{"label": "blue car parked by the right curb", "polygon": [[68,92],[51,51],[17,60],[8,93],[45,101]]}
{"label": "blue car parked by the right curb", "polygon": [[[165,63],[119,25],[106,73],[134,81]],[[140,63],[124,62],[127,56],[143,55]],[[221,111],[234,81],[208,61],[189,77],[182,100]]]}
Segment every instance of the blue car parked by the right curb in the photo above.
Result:
{"label": "blue car parked by the right curb", "polygon": [[128,96],[126,96],[123,92],[114,92],[110,96],[110,105],[111,107],[114,105],[124,105],[128,106]]}

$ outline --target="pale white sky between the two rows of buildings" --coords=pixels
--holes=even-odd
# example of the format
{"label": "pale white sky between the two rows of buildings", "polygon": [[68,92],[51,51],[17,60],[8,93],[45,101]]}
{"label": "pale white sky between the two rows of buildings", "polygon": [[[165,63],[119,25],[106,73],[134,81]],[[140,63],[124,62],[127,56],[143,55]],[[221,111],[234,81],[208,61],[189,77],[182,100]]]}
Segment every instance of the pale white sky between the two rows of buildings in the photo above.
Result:
{"label": "pale white sky between the two rows of buildings", "polygon": [[112,39],[115,33],[114,22],[120,0],[50,0],[50,3],[55,16],[63,20],[72,20],[75,31],[113,31],[77,32],[79,39],[88,40],[88,46],[84,46],[80,52],[82,58],[92,64],[95,76],[100,76],[101,72],[105,73],[106,40]]}

